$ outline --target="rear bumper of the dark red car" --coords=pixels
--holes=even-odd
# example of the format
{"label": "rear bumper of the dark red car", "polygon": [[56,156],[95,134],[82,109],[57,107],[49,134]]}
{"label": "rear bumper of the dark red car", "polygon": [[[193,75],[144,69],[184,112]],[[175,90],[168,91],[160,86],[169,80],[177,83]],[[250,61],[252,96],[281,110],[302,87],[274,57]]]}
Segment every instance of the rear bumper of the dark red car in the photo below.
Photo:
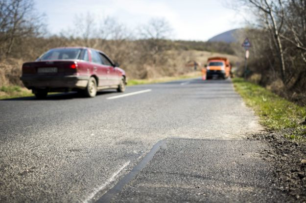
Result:
{"label": "rear bumper of the dark red car", "polygon": [[88,84],[88,76],[22,76],[24,86],[28,89],[85,89]]}

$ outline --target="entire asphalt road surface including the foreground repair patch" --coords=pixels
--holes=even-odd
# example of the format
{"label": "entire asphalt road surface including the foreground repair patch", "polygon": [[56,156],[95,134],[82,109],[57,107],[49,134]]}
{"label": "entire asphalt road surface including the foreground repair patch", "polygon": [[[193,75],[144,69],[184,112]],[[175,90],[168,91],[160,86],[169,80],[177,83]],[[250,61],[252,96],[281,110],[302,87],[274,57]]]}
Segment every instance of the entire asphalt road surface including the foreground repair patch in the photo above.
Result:
{"label": "entire asphalt road surface including the foreground repair patch", "polygon": [[[265,146],[245,140],[262,128],[230,80],[137,85],[125,93],[103,91],[92,99],[70,93],[46,100],[5,100],[0,101],[0,115],[0,202],[103,202],[107,192],[126,177],[132,181],[109,201],[214,202],[229,194],[232,201],[255,194],[259,197],[249,200],[256,202],[277,194],[269,186],[269,164],[258,158]],[[166,145],[159,146],[151,154],[153,159],[142,164],[143,170],[131,176],[152,146],[163,140]],[[143,175],[148,171],[164,171],[168,176]],[[189,184],[200,186],[194,193]],[[185,185],[184,192],[173,185]],[[216,190],[208,191],[207,186],[201,190],[201,185]],[[241,187],[248,189],[241,192]],[[164,199],[154,199],[152,191]],[[137,200],[128,194],[135,194]],[[171,194],[176,197],[171,199]]]}

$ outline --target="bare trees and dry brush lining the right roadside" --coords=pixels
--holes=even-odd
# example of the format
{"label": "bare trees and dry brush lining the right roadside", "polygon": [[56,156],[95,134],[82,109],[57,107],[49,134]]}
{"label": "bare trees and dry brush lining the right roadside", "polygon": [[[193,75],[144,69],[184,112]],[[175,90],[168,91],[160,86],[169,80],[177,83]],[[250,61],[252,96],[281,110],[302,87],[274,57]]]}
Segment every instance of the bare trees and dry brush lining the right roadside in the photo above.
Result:
{"label": "bare trees and dry brush lining the right roadside", "polygon": [[243,35],[253,45],[248,78],[306,105],[306,1],[238,1],[257,16]]}

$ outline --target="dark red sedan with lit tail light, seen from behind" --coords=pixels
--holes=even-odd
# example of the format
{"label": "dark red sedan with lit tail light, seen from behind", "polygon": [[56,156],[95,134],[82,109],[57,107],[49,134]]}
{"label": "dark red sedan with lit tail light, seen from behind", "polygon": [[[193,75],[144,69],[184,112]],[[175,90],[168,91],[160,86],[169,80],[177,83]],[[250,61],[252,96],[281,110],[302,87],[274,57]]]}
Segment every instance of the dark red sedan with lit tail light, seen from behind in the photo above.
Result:
{"label": "dark red sedan with lit tail light, seen from behind", "polygon": [[34,62],[23,64],[21,80],[37,98],[48,92],[77,91],[94,97],[101,89],[124,92],[124,70],[106,54],[88,47],[50,49]]}

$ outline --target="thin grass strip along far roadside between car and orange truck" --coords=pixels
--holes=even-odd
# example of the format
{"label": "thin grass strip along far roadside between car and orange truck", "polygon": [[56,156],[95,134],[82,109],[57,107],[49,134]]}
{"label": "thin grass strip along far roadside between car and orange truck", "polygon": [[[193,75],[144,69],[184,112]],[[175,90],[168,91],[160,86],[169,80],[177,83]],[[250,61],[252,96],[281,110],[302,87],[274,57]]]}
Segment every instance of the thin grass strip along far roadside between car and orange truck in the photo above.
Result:
{"label": "thin grass strip along far roadside between car and orange truck", "polygon": [[201,72],[192,72],[188,73],[186,75],[177,76],[177,77],[163,77],[163,78],[157,78],[157,79],[143,79],[143,80],[128,80],[127,85],[137,85],[137,84],[152,84],[152,83],[158,83],[158,82],[168,82],[168,81],[176,81],[181,79],[188,79],[188,78],[196,78],[200,77]]}

